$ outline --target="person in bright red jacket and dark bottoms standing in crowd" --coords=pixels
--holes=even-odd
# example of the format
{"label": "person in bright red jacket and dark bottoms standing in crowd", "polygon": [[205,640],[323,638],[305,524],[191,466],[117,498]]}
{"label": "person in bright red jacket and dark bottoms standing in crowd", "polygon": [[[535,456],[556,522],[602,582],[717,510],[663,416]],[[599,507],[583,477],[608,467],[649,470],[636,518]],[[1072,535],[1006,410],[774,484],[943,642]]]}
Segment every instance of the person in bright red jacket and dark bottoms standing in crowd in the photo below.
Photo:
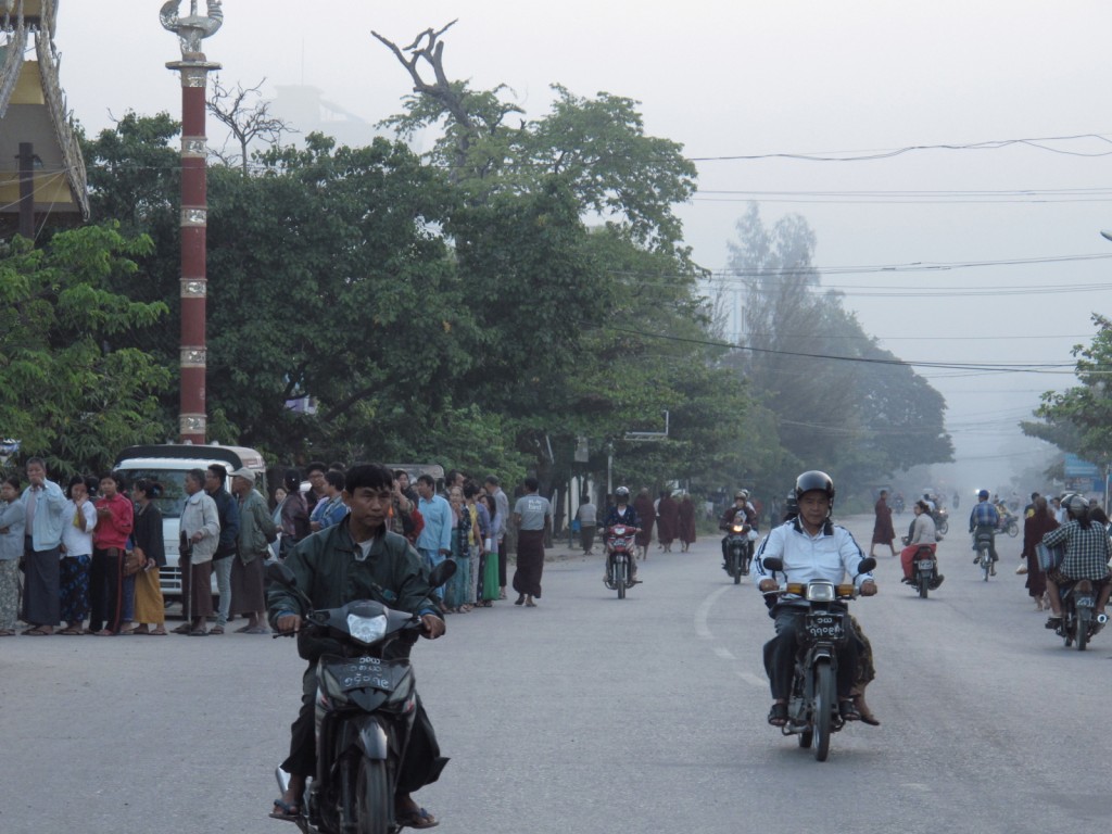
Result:
{"label": "person in bright red jacket and dark bottoms standing in crowd", "polygon": [[123,552],[135,529],[135,507],[122,489],[123,477],[119,473],[109,473],[100,479],[89,572],[89,631],[98,637],[119,634],[126,625]]}

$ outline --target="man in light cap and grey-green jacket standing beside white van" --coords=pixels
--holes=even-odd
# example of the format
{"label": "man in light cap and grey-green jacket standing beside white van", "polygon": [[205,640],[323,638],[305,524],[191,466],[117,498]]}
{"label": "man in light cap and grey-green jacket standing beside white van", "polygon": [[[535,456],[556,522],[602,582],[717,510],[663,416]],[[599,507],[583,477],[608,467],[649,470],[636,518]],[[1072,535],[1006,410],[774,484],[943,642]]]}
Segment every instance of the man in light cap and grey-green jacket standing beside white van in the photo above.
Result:
{"label": "man in light cap and grey-green jacket standing beside white van", "polygon": [[[334,473],[329,473],[334,474]],[[231,559],[231,613],[247,617],[237,632],[269,634],[264,563],[270,542],[278,537],[267,500],[255,489],[255,473],[246,466],[231,474],[231,492],[239,499],[239,552]]]}

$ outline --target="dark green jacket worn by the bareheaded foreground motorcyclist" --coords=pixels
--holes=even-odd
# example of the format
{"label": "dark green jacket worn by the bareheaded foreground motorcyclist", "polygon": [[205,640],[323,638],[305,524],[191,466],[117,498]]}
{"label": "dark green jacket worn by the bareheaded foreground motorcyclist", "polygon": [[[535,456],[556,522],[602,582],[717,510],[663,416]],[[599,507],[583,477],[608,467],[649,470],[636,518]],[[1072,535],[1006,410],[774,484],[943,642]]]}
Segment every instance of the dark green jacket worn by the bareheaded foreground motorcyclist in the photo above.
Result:
{"label": "dark green jacket worn by the bareheaded foreground motorcyclist", "polygon": [[[396,533],[385,530],[375,538],[365,560],[363,550],[351,540],[348,518],[301,539],[286,558],[297,587],[312,602],[312,608],[338,608],[354,599],[374,599],[395,610],[410,614],[436,614],[440,606],[428,584],[428,569],[420,555]],[[282,613],[308,613],[296,594],[271,584],[267,592],[270,624]],[[298,652],[316,659],[335,652],[331,641],[298,638]]]}

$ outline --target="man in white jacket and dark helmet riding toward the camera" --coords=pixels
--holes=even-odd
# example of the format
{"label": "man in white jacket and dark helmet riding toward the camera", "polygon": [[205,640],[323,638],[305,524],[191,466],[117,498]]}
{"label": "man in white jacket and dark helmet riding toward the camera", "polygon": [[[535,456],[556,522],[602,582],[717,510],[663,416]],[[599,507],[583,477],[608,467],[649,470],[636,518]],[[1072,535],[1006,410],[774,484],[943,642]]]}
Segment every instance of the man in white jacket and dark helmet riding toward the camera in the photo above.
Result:
{"label": "man in white jacket and dark helmet riding toward the camera", "polygon": [[[876,583],[872,574],[857,575],[864,554],[850,530],[835,525],[830,518],[834,505],[834,481],[830,475],[817,470],[803,473],[795,480],[795,495],[800,515],[774,527],[757,553],[756,569],[762,577],[757,588],[770,593],[780,587],[780,583],[764,567],[765,557],[775,556],[784,563],[784,574],[793,583],[827,579],[838,584],[848,574],[856,577],[854,582],[863,596],[873,596]],[[764,662],[773,697],[768,723],[774,727],[787,723],[798,631],[803,627],[805,614],[806,607],[801,605],[800,597],[791,594],[781,596],[772,610],[776,636],[765,644]],[[861,713],[854,704],[853,694],[858,642],[856,634],[850,637],[838,649],[838,713],[843,721],[860,721]]]}

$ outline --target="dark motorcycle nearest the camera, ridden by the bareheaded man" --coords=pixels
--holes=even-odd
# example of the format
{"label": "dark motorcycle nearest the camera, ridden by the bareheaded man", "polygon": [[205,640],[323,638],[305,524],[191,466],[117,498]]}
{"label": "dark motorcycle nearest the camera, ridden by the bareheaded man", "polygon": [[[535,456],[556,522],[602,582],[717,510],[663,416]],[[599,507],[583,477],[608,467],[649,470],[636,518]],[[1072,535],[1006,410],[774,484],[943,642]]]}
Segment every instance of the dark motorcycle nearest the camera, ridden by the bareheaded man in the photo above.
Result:
{"label": "dark motorcycle nearest the camera, ridden by the bareheaded man", "polygon": [[[447,559],[429,577],[439,587],[456,573]],[[267,567],[267,578],[309,598],[281,563]],[[304,834],[395,834],[397,775],[405,759],[417,711],[416,681],[408,658],[387,659],[387,647],[403,634],[419,631],[417,614],[359,599],[339,608],[311,610],[301,631],[329,637],[342,654],[317,662],[317,772],[306,784],[301,816],[294,822]],[[294,633],[275,637],[294,636]],[[289,774],[275,771],[279,790]]]}

